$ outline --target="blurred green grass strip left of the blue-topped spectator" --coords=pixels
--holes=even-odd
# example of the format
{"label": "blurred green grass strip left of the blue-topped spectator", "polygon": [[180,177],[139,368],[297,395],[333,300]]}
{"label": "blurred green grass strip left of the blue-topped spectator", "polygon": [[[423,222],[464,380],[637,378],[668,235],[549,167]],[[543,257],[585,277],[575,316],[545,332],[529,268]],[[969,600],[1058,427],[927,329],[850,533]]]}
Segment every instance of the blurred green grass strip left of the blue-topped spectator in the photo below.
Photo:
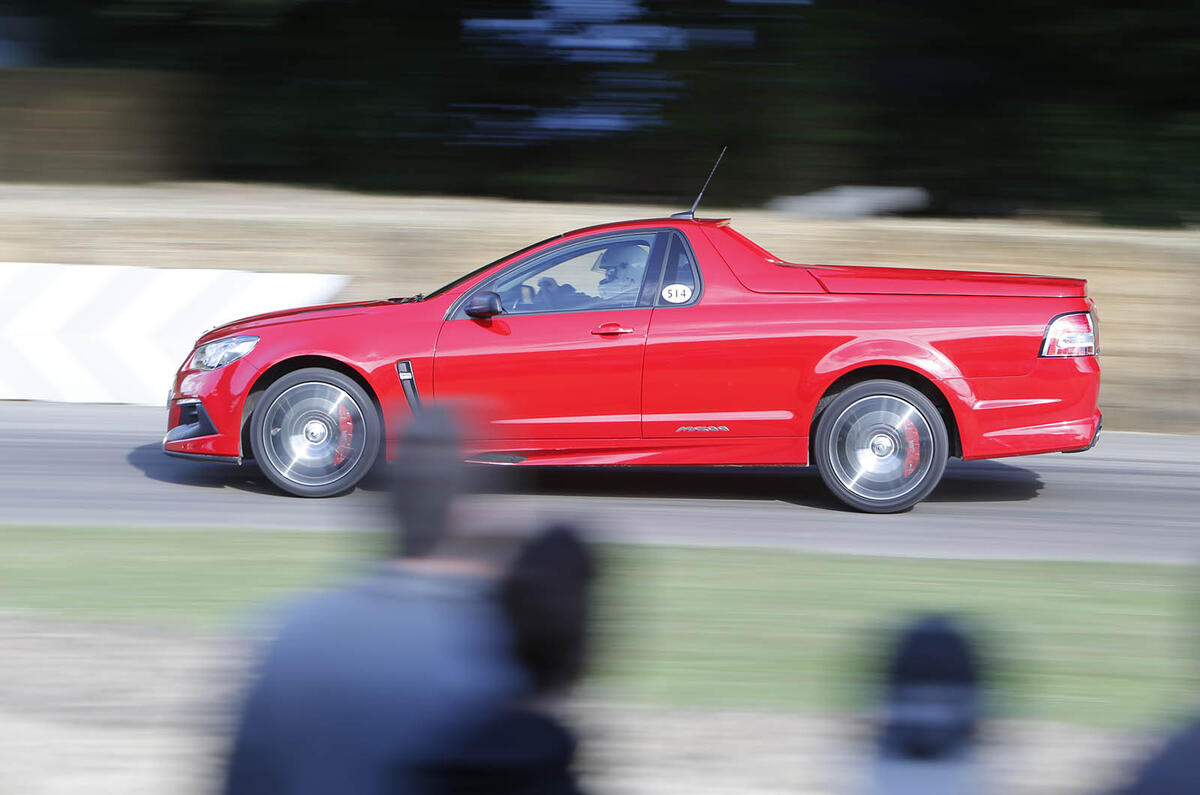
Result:
{"label": "blurred green grass strip left of the blue-topped spectator", "polygon": [[0,608],[220,629],[353,572],[376,544],[361,533],[0,527]]}

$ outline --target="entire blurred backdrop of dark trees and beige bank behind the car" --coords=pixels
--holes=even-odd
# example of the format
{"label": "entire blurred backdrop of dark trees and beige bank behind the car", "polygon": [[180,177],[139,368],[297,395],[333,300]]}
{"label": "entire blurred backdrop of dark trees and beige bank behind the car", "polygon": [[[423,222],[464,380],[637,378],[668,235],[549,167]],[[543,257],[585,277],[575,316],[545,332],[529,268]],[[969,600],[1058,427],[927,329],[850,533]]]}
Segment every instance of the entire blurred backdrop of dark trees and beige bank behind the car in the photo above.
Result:
{"label": "entire blurred backdrop of dark trees and beige bank behind the car", "polygon": [[1195,432],[1198,40],[1195,2],[7,0],[2,258],[427,292],[684,209],[728,145],[704,208],[785,259],[1088,279],[1106,426]]}

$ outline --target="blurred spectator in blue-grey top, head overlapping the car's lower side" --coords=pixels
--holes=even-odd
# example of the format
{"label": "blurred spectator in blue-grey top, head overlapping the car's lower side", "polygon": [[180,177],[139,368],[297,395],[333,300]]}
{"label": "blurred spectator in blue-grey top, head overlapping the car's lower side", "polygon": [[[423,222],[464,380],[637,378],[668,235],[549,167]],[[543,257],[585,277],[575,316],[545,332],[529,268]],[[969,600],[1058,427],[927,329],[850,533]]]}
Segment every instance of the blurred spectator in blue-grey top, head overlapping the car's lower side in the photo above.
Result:
{"label": "blurred spectator in blue-grey top, head overlapping the car's lower side", "polygon": [[226,793],[421,791],[414,770],[523,691],[498,566],[454,532],[456,441],[449,414],[422,412],[394,472],[391,557],[286,610],[245,698]]}

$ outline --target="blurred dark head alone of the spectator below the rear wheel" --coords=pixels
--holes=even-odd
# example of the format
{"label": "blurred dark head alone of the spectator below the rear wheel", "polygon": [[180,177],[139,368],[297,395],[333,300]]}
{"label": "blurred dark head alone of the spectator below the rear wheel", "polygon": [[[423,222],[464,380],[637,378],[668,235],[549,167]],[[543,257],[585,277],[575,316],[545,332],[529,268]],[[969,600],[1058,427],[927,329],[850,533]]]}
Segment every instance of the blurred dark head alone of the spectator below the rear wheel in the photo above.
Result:
{"label": "blurred dark head alone of the spectator below the rear wheel", "polygon": [[965,632],[944,616],[912,621],[886,669],[882,743],[888,755],[943,759],[976,734],[982,670]]}

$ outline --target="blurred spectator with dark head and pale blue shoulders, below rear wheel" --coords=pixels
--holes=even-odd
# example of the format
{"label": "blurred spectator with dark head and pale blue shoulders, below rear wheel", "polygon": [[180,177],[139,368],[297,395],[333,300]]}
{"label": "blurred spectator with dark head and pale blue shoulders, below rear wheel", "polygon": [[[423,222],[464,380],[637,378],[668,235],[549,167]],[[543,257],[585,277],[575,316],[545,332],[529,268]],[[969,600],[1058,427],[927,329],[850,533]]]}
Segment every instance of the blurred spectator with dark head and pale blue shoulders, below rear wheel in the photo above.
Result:
{"label": "blurred spectator with dark head and pale blue shoulders, below rear wheel", "polygon": [[886,669],[878,747],[866,791],[985,791],[973,753],[982,691],[978,653],[953,621],[926,616],[905,628]]}

